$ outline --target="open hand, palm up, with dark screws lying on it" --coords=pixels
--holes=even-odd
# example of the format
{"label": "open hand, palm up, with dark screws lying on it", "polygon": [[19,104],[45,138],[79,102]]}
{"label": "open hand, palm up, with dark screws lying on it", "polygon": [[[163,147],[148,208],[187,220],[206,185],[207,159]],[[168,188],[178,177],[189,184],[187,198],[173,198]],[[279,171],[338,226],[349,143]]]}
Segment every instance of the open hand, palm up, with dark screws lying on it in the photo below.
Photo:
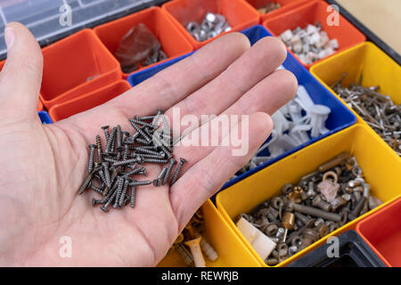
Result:
{"label": "open hand, palm up, with dark screws lying on it", "polygon": [[[0,75],[0,265],[156,265],[193,213],[266,140],[273,127],[269,114],[296,92],[290,72],[274,71],[286,56],[279,40],[264,38],[250,48],[245,36],[232,33],[102,106],[42,126],[36,114],[40,48],[18,23],[8,25],[5,37],[9,52]],[[128,118],[160,108],[171,119],[173,107],[200,121],[201,115],[250,115],[249,152],[233,156],[231,147],[177,146],[176,159],[188,161],[181,178],[172,187],[138,187],[135,208],[105,214],[91,207],[92,198],[99,198],[94,191],[78,196],[87,175],[87,145],[102,134],[101,126],[119,124],[132,134]],[[214,135],[221,140],[229,134]],[[147,170],[150,179],[160,173],[157,165]],[[72,241],[70,258],[59,254],[65,236]]]}

